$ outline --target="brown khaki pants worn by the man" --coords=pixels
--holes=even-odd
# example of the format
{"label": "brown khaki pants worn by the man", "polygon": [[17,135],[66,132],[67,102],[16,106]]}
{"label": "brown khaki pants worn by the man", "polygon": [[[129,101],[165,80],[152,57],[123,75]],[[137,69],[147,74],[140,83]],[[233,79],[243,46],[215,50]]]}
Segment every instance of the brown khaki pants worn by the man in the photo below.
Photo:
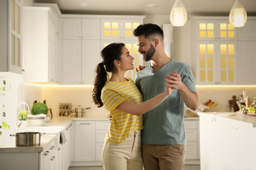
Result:
{"label": "brown khaki pants worn by the man", "polygon": [[184,145],[142,143],[142,159],[145,170],[183,170]]}

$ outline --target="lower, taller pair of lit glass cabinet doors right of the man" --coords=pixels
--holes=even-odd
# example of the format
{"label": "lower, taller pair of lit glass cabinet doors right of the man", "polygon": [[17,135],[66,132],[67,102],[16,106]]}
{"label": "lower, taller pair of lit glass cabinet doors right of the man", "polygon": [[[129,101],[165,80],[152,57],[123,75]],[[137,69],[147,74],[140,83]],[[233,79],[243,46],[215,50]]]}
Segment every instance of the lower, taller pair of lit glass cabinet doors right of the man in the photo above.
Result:
{"label": "lower, taller pair of lit glass cabinet doors right of the man", "polygon": [[237,84],[237,42],[197,42],[198,84]]}

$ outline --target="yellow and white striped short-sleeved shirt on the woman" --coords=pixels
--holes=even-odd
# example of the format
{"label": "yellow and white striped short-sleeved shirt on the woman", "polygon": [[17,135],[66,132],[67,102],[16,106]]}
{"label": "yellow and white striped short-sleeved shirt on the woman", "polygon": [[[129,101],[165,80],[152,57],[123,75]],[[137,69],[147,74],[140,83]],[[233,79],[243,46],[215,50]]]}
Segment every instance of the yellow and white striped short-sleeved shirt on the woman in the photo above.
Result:
{"label": "yellow and white striped short-sleeved shirt on the woman", "polygon": [[135,82],[127,78],[127,82],[107,81],[102,88],[101,99],[104,107],[112,116],[112,122],[106,134],[105,140],[110,143],[121,143],[131,131],[138,131],[143,128],[142,116],[136,116],[116,109],[123,101],[130,101],[135,104],[142,102],[142,95]]}

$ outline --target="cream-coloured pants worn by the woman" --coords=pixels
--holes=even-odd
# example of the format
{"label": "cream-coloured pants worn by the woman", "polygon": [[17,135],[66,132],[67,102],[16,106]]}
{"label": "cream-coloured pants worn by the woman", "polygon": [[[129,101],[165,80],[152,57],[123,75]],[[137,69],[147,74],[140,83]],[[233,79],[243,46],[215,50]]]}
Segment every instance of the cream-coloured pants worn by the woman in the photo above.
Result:
{"label": "cream-coloured pants worn by the woman", "polygon": [[105,141],[102,149],[104,170],[142,170],[140,131],[132,131],[120,144]]}

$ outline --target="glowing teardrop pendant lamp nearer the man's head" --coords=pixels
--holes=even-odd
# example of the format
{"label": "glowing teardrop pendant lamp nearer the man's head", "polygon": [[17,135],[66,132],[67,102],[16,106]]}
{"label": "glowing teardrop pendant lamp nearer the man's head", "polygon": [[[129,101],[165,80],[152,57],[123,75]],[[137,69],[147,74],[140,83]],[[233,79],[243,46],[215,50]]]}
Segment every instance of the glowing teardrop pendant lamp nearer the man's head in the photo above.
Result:
{"label": "glowing teardrop pendant lamp nearer the man's head", "polygon": [[170,20],[173,26],[183,26],[186,24],[186,9],[181,0],[176,0],[170,13]]}

